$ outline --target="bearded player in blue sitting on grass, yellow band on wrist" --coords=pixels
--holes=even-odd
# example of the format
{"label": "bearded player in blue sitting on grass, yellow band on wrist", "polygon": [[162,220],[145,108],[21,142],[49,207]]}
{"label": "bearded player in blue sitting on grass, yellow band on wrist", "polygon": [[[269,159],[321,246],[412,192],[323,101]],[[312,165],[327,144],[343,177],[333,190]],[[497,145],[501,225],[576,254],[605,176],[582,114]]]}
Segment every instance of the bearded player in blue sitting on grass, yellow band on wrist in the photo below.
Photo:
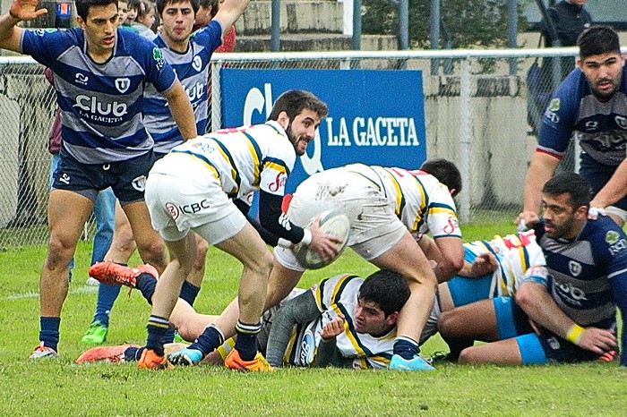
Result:
{"label": "bearded player in blue sitting on grass, yellow band on wrist", "polygon": [[[589,201],[579,174],[545,183],[535,229],[546,266],[531,268],[515,302],[496,311],[500,336],[509,338],[464,349],[460,363],[584,362],[615,351],[617,306],[623,328],[627,319],[627,235],[609,217],[588,220]],[[626,339],[623,332],[622,366]]]}

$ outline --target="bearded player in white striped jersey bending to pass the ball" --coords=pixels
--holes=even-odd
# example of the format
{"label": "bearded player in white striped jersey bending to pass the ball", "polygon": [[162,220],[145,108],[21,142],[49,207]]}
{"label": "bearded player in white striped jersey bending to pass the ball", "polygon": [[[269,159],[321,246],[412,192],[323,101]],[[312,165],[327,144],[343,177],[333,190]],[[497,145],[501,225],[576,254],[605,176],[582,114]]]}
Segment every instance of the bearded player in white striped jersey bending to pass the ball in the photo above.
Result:
{"label": "bearded player in white striped jersey bending to pass the ball", "polygon": [[[244,265],[235,327],[237,342],[225,364],[236,370],[271,370],[257,352],[255,339],[261,329],[272,255],[233,199],[259,191],[260,223],[280,237],[279,244],[305,243],[322,260],[336,256],[340,240],[324,234],[318,222],[299,227],[281,213],[285,183],[296,156],[305,154],[327,112],[326,104],[312,93],[289,90],[277,98],[267,123],[188,140],[152,167],[146,182],[146,202],[152,226],[166,241],[170,263],[152,297],[140,368],[170,366],[162,337],[181,285],[196,258],[196,241],[189,233],[193,231]],[[132,280],[142,274],[142,269],[112,262],[108,266],[96,264],[90,275],[119,284],[125,278]],[[199,337],[201,342],[208,339],[212,345],[217,343],[215,347],[224,342],[219,326],[209,328]]]}

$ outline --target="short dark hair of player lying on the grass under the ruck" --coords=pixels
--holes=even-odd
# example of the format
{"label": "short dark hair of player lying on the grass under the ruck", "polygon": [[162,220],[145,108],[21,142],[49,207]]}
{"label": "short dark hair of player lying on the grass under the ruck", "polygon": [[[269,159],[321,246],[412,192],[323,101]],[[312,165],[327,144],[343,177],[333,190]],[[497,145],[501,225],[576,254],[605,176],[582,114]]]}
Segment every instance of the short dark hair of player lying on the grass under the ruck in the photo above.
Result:
{"label": "short dark hair of player lying on the grass under the ruck", "polygon": [[358,298],[366,302],[376,302],[387,317],[403,308],[409,294],[405,277],[398,272],[382,269],[365,278],[364,284],[359,288]]}

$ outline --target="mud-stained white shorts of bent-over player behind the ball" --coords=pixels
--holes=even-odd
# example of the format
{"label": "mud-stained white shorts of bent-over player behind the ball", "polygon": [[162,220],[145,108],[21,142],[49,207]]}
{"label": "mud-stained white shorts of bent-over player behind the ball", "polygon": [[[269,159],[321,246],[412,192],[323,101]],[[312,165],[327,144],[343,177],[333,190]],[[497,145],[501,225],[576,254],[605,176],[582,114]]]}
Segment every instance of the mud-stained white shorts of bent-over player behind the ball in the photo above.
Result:
{"label": "mud-stained white shorts of bent-over player behind the ball", "polygon": [[[323,211],[337,209],[350,220],[347,246],[365,260],[374,260],[399,243],[407,228],[391,209],[390,203],[373,183],[359,174],[317,173],[298,185],[289,203],[288,217],[305,227]],[[277,246],[279,263],[304,271],[294,252]]]}

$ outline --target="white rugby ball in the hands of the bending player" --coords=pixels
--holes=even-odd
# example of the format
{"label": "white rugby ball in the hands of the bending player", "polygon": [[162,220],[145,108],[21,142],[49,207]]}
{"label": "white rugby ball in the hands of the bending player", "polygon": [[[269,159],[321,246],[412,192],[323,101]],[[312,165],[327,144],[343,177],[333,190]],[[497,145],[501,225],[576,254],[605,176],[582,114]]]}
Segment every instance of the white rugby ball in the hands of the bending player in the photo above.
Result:
{"label": "white rugby ball in the hands of the bending player", "polygon": [[[313,249],[310,249],[306,244],[296,244],[292,251],[294,251],[294,254],[296,255],[296,260],[298,260],[298,262],[307,269],[320,269],[331,264],[332,261],[337,260],[339,254],[344,251],[344,248],[346,247],[348,234],[350,233],[350,221],[348,220],[348,217],[339,212],[339,210],[325,211],[317,217],[321,217],[320,228],[322,231],[326,234],[331,234],[332,236],[338,236],[342,239],[342,243],[339,244],[338,256],[328,262],[324,262],[318,253],[316,253]],[[313,222],[314,220],[312,220],[307,226],[311,226]]]}

